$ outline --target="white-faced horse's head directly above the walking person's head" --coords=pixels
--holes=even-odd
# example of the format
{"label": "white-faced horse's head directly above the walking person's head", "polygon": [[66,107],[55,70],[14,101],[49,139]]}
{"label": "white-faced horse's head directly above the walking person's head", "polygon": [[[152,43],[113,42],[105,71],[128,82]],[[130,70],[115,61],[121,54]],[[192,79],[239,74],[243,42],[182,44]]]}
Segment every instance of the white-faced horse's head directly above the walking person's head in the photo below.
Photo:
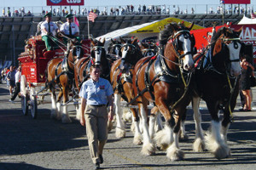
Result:
{"label": "white-faced horse's head directly above the walking person's head", "polygon": [[94,59],[95,65],[102,64],[102,56],[106,56],[104,48],[105,38],[101,41],[91,39],[90,55]]}

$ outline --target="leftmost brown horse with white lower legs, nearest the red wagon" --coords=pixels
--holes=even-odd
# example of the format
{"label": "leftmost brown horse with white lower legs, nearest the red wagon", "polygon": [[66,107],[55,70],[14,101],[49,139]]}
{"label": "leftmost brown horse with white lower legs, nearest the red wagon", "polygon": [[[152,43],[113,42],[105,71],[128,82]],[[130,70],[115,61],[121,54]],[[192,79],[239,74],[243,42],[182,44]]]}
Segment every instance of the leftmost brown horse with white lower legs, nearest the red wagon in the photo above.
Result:
{"label": "leftmost brown horse with white lower legs, nearest the red wagon", "polygon": [[[60,120],[63,123],[72,122],[67,112],[68,94],[73,88],[74,65],[77,59],[83,57],[84,50],[80,46],[75,45],[76,40],[69,39],[67,43],[67,51],[64,59],[55,58],[49,60],[46,70],[46,87],[49,87],[51,93],[51,117]],[[60,93],[56,100],[55,85],[60,87]],[[63,111],[61,114],[61,98],[63,96]],[[62,116],[61,116],[62,115]]]}

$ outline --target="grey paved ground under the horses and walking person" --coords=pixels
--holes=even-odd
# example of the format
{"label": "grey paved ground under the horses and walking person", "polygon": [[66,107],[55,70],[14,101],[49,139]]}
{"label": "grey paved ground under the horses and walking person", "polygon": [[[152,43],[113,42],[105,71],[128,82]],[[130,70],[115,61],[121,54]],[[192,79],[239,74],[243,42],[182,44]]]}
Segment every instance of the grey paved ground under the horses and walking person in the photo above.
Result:
{"label": "grey paved ground under the horses and walking person", "polygon": [[[38,118],[23,116],[20,103],[9,102],[6,84],[0,84],[0,170],[92,169],[84,128],[74,119],[74,108],[69,107],[73,123],[62,124],[50,119],[50,105],[38,106]],[[256,93],[254,93],[254,97]],[[18,99],[16,99],[18,101]],[[254,100],[256,101],[256,100]],[[132,133],[127,123],[127,137],[115,139],[114,130],[108,136],[105,169],[256,169],[256,111],[234,112],[235,122],[228,135],[232,156],[218,161],[208,152],[195,153],[192,143],[195,125],[189,110],[186,128],[189,141],[181,142],[184,161],[170,161],[165,151],[155,156],[142,156],[141,146],[132,144]],[[202,110],[203,128],[209,127],[210,117]]]}

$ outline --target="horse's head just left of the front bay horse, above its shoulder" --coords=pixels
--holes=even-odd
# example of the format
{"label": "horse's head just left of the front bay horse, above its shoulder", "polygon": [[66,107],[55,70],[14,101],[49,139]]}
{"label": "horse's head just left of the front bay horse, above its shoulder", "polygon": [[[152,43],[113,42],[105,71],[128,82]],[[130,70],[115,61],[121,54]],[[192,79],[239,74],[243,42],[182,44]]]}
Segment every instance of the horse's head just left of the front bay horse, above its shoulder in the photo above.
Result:
{"label": "horse's head just left of the front bay horse, above its shoulder", "polygon": [[122,42],[121,52],[121,64],[119,68],[123,71],[127,71],[129,65],[135,65],[138,59],[143,57],[140,47],[137,44],[137,37],[133,40],[125,41],[122,37],[119,37]]}

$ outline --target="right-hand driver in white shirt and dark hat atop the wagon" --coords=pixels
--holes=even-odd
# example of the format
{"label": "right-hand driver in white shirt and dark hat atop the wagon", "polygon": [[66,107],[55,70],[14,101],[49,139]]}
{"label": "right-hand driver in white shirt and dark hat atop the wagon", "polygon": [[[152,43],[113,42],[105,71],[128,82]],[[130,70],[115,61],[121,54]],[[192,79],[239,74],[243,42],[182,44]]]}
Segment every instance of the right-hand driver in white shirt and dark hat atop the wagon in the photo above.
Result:
{"label": "right-hand driver in white shirt and dark hat atop the wagon", "polygon": [[79,38],[79,26],[73,23],[73,14],[67,14],[65,16],[67,22],[62,24],[61,26],[61,33],[66,36],[63,37],[64,42],[67,44],[67,37],[76,38],[80,42]]}

